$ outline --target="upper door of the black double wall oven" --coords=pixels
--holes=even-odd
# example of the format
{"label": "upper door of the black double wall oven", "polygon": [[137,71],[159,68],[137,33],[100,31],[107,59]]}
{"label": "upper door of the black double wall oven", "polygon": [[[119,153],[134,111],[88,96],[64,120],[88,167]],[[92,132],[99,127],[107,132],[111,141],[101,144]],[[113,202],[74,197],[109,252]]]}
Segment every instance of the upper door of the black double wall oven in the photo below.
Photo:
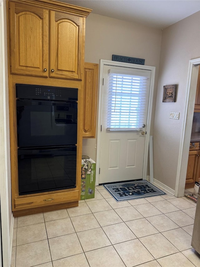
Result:
{"label": "upper door of the black double wall oven", "polygon": [[18,147],[77,143],[77,103],[17,100]]}

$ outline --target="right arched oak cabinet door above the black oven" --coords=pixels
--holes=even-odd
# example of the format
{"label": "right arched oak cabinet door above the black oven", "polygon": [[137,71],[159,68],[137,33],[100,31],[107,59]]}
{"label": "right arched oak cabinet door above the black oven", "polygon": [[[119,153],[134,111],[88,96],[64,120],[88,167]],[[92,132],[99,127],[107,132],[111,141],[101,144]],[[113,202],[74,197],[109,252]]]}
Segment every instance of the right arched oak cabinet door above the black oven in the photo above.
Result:
{"label": "right arched oak cabinet door above the black oven", "polygon": [[50,76],[81,80],[85,18],[55,11],[50,14]]}

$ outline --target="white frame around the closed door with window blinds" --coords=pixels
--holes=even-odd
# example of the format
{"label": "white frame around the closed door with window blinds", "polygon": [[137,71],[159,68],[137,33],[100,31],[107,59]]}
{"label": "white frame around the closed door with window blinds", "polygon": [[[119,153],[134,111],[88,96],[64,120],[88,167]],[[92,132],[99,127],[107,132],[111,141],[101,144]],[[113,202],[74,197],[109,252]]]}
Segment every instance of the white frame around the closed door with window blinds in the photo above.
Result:
{"label": "white frame around the closed door with window blinds", "polygon": [[146,135],[146,138],[145,138],[144,162],[143,162],[143,180],[145,180],[145,179],[147,179],[149,136],[150,136],[152,104],[153,104],[153,90],[154,90],[156,67],[100,59],[99,96],[98,96],[98,126],[97,126],[96,185],[99,184],[99,166],[100,166],[100,149],[101,149],[101,147],[100,147],[101,146],[101,117],[102,117],[102,95],[103,95],[103,69],[104,69],[104,65],[110,65],[110,66],[116,66],[116,67],[126,67],[126,68],[136,68],[136,69],[145,69],[145,70],[150,70],[151,71],[149,102],[148,102],[148,114],[147,114],[147,127],[146,127],[147,135]]}

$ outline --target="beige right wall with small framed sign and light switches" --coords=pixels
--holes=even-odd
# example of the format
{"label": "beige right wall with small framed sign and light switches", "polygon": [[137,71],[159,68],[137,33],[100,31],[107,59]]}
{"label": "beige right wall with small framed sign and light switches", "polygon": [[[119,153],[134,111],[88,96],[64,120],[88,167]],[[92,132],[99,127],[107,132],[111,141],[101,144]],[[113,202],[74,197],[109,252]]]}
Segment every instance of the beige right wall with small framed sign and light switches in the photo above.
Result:
{"label": "beige right wall with small framed sign and light switches", "polygon": [[[153,131],[154,178],[175,190],[189,60],[200,56],[200,12],[163,30]],[[163,86],[177,84],[177,100],[162,102]],[[179,120],[169,119],[180,112]],[[193,117],[193,113],[191,113]],[[189,144],[188,144],[189,147]],[[184,177],[185,178],[185,177]]]}

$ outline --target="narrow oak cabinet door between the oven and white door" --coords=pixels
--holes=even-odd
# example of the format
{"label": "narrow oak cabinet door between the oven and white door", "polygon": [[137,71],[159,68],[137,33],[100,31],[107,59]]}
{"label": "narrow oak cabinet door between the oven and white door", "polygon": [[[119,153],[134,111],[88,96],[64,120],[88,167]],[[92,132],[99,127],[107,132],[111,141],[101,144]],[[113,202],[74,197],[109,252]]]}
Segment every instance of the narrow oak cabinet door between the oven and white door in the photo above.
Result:
{"label": "narrow oak cabinet door between the oven and white door", "polygon": [[98,64],[84,64],[83,138],[95,138],[97,119]]}

